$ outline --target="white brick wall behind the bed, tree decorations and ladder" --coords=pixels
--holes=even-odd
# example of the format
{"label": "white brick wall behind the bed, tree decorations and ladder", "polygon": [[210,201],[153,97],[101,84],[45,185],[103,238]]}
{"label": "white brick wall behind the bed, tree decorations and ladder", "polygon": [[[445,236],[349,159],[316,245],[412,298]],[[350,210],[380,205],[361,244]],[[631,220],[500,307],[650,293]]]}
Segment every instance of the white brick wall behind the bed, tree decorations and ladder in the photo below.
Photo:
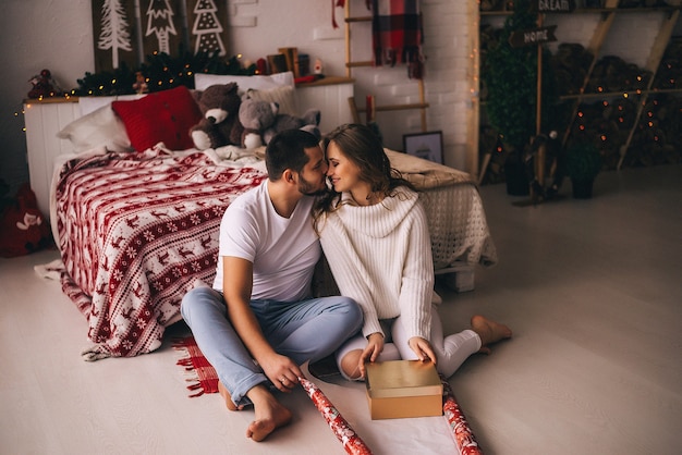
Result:
{"label": "white brick wall behind the bed, tree decorations and ladder", "polygon": [[[328,0],[223,0],[230,12],[229,54],[242,53],[252,61],[279,47],[297,47],[310,60],[320,58],[325,74],[345,75],[343,9],[336,8],[338,29],[331,25],[332,2]],[[358,15],[368,14],[365,0],[352,1]],[[0,15],[0,134],[3,138],[0,179],[15,189],[28,182],[22,101],[31,89],[28,79],[49,69],[63,88],[75,88],[77,79],[94,72],[92,5],[88,0],[4,0]],[[472,3],[475,7],[475,3]],[[467,112],[471,111],[470,29],[467,2],[422,0],[425,17],[426,98],[428,130],[441,130],[444,160],[470,170],[466,157]],[[358,33],[354,47],[370,56],[370,35]],[[361,53],[357,57],[362,57]],[[417,102],[416,83],[407,79],[404,66],[360,69],[356,102],[365,95],[377,104]],[[324,114],[324,107],[320,107]],[[471,115],[468,115],[471,116]],[[418,111],[380,113],[377,118],[387,146],[401,149],[402,135],[419,131]],[[470,153],[471,155],[471,153]]]}

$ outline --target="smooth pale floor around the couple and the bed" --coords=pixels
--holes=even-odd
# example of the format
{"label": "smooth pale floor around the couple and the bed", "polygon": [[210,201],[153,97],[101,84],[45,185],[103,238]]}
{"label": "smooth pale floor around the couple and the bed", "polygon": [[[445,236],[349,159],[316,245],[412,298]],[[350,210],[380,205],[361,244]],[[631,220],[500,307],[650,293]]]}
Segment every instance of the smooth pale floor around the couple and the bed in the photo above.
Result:
{"label": "smooth pale floor around the couple and the bed", "polygon": [[[480,312],[514,339],[464,364],[450,381],[458,401],[487,455],[679,454],[682,167],[602,173],[592,200],[572,199],[570,183],[562,193],[520,208],[503,185],[482,188],[499,263],[477,269],[474,292],[440,286],[440,310],[448,331]],[[186,397],[168,341],[137,358],[83,361],[85,319],[33,270],[57,257],[0,259],[0,453],[343,453],[314,417],[246,441],[251,415],[217,395]]]}

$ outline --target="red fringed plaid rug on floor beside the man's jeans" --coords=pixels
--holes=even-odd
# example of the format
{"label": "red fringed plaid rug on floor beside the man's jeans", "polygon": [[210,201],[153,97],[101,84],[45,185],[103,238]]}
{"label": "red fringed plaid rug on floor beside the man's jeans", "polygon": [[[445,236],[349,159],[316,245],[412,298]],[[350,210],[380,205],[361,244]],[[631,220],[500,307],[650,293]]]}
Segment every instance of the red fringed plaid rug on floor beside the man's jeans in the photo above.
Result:
{"label": "red fringed plaid rug on floor beside the man's jeans", "polygon": [[218,374],[196,345],[194,336],[175,340],[173,348],[181,353],[182,357],[178,360],[178,365],[185,369],[186,381],[190,383],[187,390],[192,392],[190,396],[218,393]]}

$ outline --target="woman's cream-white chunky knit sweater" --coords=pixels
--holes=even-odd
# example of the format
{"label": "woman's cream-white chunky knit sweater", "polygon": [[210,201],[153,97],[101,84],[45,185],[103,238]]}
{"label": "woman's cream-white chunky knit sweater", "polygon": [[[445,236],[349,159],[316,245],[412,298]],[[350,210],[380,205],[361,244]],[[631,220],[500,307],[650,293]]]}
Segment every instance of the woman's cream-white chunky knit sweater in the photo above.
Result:
{"label": "woman's cream-white chunky knit sweater", "polygon": [[363,308],[364,336],[383,334],[379,319],[402,316],[409,337],[429,340],[434,262],[416,193],[399,187],[374,206],[357,206],[344,193],[317,230],[341,294]]}

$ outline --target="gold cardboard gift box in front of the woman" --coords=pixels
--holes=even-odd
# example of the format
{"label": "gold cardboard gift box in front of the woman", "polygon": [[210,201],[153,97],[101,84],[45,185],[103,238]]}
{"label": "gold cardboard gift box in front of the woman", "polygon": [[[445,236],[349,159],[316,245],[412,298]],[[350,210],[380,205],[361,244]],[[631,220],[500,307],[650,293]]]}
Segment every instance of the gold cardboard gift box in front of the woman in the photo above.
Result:
{"label": "gold cardboard gift box in front of the woman", "polygon": [[431,361],[366,364],[373,420],[442,416],[442,383]]}

